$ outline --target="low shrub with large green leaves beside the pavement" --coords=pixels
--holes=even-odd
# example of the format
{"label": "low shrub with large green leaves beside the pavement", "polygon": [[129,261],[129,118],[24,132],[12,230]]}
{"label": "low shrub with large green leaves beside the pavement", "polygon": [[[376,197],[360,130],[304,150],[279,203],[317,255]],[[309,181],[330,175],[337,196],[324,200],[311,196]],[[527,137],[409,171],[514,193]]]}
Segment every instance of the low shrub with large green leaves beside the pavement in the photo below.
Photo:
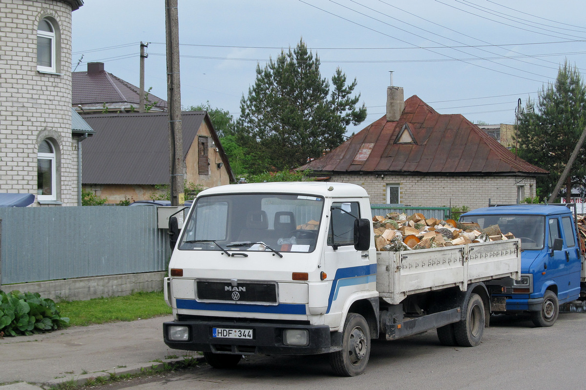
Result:
{"label": "low shrub with large green leaves beside the pavement", "polygon": [[38,292],[0,291],[0,332],[21,336],[50,332],[69,326],[52,299],[41,298]]}

